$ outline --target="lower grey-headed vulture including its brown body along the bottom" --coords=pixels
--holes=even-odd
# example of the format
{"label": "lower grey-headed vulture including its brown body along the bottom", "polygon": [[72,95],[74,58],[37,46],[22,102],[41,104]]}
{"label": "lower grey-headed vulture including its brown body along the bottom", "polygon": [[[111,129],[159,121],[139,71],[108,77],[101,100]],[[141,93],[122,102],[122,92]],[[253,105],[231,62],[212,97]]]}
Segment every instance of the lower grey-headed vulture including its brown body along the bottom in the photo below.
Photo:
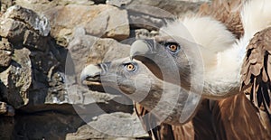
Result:
{"label": "lower grey-headed vulture including its brown body along the bottom", "polygon": [[[182,111],[188,92],[177,85],[158,79],[140,61],[125,58],[96,65],[90,64],[82,71],[81,79],[88,80],[90,85],[92,82],[95,85],[101,82],[103,86],[118,89],[139,103],[140,107],[145,107],[143,110],[146,112],[142,112],[140,107],[135,106],[141,110],[137,111],[137,114],[144,123],[145,130],[151,130],[150,135],[154,136],[153,139],[271,138],[270,126],[258,117],[261,112],[244,94],[220,101],[203,100],[186,123],[176,122],[180,113],[183,113],[178,111]],[[180,96],[174,94],[179,91]],[[177,103],[173,109],[170,106],[174,101]],[[172,109],[173,112],[169,112]],[[164,120],[161,120],[161,117]]]}

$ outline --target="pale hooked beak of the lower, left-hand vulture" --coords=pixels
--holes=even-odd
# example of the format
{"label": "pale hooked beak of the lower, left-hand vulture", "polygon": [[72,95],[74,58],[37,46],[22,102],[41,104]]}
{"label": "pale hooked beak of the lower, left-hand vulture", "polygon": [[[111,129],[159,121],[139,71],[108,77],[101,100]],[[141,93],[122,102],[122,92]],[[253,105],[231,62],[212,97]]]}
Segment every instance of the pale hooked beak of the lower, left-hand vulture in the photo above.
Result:
{"label": "pale hooked beak of the lower, left-hand vulture", "polygon": [[100,63],[96,65],[89,64],[82,70],[80,74],[81,83],[84,83],[84,81],[86,81],[87,83],[85,84],[87,85],[100,85],[100,77],[107,73],[109,67],[110,62]]}

